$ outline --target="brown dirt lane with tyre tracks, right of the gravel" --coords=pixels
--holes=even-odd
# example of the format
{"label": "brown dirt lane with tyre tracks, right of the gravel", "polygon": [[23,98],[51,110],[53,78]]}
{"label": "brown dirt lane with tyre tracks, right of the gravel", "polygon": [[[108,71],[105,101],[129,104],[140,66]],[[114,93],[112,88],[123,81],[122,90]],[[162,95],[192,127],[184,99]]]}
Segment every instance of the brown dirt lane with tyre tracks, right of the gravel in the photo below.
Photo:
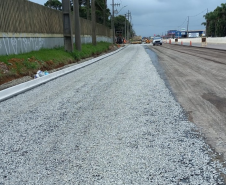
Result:
{"label": "brown dirt lane with tyre tracks, right of the gravel", "polygon": [[[166,46],[168,48],[166,48]],[[149,46],[177,101],[226,160],[226,54],[178,46]]]}

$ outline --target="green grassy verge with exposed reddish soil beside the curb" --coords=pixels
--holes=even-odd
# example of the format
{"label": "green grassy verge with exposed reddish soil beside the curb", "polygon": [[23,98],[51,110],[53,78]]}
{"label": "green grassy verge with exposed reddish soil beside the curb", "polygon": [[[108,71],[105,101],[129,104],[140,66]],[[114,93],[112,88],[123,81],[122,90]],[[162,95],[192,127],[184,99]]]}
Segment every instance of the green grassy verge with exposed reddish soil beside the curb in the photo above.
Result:
{"label": "green grassy verge with exposed reddish soil beside the curb", "polygon": [[82,50],[72,53],[64,47],[41,49],[19,55],[0,56],[0,85],[23,76],[34,76],[38,70],[48,71],[81,59],[95,57],[111,49],[111,43],[99,42],[96,46],[83,44]]}

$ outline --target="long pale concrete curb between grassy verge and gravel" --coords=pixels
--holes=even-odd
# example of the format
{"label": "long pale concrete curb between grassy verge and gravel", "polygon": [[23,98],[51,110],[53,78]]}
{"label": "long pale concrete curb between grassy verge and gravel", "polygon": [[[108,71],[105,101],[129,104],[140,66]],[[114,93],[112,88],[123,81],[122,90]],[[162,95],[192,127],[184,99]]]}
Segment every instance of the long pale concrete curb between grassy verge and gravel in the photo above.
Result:
{"label": "long pale concrete curb between grassy verge and gravel", "polygon": [[19,85],[16,85],[16,86],[4,89],[4,90],[0,91],[0,102],[4,101],[6,99],[9,99],[9,98],[11,98],[13,96],[16,96],[18,94],[21,94],[21,93],[23,93],[25,91],[28,91],[30,89],[33,89],[33,88],[35,88],[35,87],[37,87],[37,86],[39,86],[41,84],[44,84],[44,83],[47,83],[47,82],[49,82],[51,80],[59,78],[59,77],[61,77],[63,75],[66,75],[68,73],[71,73],[73,71],[76,71],[78,69],[86,67],[88,65],[91,65],[91,64],[93,64],[93,63],[95,63],[95,62],[97,62],[99,60],[102,60],[104,58],[107,58],[107,57],[109,57],[111,55],[114,55],[115,53],[118,53],[119,51],[121,51],[125,47],[121,47],[120,49],[118,49],[116,51],[113,51],[113,52],[108,53],[106,55],[102,55],[102,56],[99,56],[97,58],[88,60],[86,62],[77,64],[77,65],[74,65],[74,66],[71,66],[71,67],[59,70],[59,71],[56,71],[54,73],[50,73],[49,75],[43,76],[41,78],[36,78],[34,80],[31,80],[31,81],[28,81],[28,82],[24,82],[24,83],[21,83]]}

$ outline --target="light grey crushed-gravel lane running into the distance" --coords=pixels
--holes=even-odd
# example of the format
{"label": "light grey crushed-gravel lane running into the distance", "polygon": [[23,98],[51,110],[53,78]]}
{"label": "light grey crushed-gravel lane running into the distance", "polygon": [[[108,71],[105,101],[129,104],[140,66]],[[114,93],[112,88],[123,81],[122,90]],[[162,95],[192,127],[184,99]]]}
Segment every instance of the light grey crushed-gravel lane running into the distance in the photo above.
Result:
{"label": "light grey crushed-gravel lane running into the distance", "polygon": [[217,185],[223,163],[145,48],[0,103],[1,185]]}

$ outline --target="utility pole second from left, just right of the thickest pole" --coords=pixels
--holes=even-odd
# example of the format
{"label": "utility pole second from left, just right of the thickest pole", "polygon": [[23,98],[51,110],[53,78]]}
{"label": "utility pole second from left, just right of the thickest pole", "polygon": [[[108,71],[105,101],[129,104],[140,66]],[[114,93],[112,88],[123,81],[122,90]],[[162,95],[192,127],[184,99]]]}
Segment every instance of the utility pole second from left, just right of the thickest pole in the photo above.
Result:
{"label": "utility pole second from left, just right of the thickest pole", "polygon": [[79,17],[79,4],[78,0],[74,0],[74,19],[75,19],[75,47],[78,51],[82,50],[81,47],[81,26]]}

